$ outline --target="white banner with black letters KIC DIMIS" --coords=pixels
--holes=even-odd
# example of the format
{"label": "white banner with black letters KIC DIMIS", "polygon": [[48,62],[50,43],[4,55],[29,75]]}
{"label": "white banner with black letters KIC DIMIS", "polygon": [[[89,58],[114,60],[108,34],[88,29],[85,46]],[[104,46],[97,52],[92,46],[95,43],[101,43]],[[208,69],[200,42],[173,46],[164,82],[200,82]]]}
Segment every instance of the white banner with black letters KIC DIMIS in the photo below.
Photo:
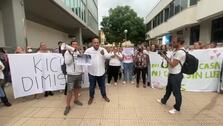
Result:
{"label": "white banner with black letters KIC DIMIS", "polygon": [[9,54],[8,57],[15,98],[64,89],[61,54]]}

